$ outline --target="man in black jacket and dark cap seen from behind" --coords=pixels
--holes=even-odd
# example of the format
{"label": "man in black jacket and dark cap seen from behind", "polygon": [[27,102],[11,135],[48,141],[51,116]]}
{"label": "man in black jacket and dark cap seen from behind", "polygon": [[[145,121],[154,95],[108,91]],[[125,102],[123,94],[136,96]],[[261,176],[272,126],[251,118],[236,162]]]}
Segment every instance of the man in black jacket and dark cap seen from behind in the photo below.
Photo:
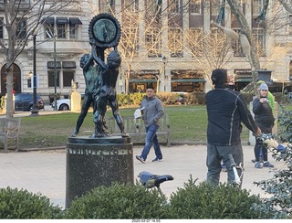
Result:
{"label": "man in black jacket and dark cap seen from behind", "polygon": [[[255,135],[259,135],[261,130],[255,124],[241,94],[227,88],[226,70],[214,69],[211,80],[214,90],[210,90],[205,96],[208,114],[207,182],[214,185],[219,184],[221,161],[223,161],[227,167],[227,181],[233,183],[235,175],[230,165],[229,154],[233,155],[235,164],[239,165],[244,162],[240,138],[241,122]],[[238,172],[241,171],[238,170]]]}

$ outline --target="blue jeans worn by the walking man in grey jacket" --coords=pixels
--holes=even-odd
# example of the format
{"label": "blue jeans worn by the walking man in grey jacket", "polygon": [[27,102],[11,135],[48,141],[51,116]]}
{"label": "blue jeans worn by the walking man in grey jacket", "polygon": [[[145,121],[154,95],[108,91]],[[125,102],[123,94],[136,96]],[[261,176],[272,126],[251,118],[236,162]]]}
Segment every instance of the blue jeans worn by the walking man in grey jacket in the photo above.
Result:
{"label": "blue jeans worn by the walking man in grey jacket", "polygon": [[159,129],[159,126],[156,124],[151,124],[150,126],[146,127],[145,146],[141,154],[141,157],[144,160],[147,159],[147,155],[150,152],[152,144],[154,144],[154,151],[155,151],[156,157],[159,159],[162,159],[161,146],[158,143],[157,134],[156,134],[158,129]]}

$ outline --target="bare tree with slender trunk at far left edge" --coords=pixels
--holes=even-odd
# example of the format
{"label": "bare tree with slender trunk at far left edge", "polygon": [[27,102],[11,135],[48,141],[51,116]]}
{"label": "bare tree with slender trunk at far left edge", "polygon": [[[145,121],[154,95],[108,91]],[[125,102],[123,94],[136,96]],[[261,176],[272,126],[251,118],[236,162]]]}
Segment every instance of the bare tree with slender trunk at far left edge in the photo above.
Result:
{"label": "bare tree with slender trunk at far left edge", "polygon": [[2,0],[1,5],[5,12],[5,19],[2,21],[7,33],[7,39],[0,40],[1,51],[5,53],[6,64],[6,117],[14,115],[13,109],[13,64],[16,58],[26,48],[31,37],[36,35],[39,24],[44,16],[51,16],[55,13],[70,11],[72,0]]}

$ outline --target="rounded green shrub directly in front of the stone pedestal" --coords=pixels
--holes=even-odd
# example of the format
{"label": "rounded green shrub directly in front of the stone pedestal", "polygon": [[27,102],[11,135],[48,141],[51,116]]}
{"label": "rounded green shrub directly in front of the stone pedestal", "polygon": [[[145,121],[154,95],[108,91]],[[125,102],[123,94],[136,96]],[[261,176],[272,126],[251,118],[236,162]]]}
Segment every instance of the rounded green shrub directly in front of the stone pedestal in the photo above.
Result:
{"label": "rounded green shrub directly in front of the stone pedestal", "polygon": [[72,201],[67,219],[164,218],[166,198],[141,185],[98,186]]}

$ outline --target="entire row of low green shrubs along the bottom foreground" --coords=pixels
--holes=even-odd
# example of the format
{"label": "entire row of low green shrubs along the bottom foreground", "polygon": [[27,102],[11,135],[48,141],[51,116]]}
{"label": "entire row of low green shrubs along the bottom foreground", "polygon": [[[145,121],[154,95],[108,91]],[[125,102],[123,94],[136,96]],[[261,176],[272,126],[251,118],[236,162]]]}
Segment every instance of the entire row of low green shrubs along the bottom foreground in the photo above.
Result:
{"label": "entire row of low green shrubs along the bottom foreground", "polygon": [[[99,186],[72,201],[61,210],[49,204],[46,196],[26,190],[0,190],[0,218],[17,219],[247,219],[273,218],[266,200],[247,190],[191,179],[172,193],[161,196],[158,189],[135,185]],[[265,207],[265,208],[264,208]]]}

